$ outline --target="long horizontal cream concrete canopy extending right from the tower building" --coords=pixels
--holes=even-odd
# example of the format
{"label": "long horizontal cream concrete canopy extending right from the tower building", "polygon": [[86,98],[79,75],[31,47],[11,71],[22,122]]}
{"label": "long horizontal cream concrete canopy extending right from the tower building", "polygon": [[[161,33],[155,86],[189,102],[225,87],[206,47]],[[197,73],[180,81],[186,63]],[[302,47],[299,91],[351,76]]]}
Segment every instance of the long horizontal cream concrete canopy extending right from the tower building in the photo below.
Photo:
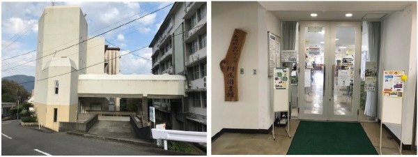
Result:
{"label": "long horizontal cream concrete canopy extending right from the tower building", "polygon": [[181,75],[80,75],[79,96],[141,98],[142,96],[183,96]]}

